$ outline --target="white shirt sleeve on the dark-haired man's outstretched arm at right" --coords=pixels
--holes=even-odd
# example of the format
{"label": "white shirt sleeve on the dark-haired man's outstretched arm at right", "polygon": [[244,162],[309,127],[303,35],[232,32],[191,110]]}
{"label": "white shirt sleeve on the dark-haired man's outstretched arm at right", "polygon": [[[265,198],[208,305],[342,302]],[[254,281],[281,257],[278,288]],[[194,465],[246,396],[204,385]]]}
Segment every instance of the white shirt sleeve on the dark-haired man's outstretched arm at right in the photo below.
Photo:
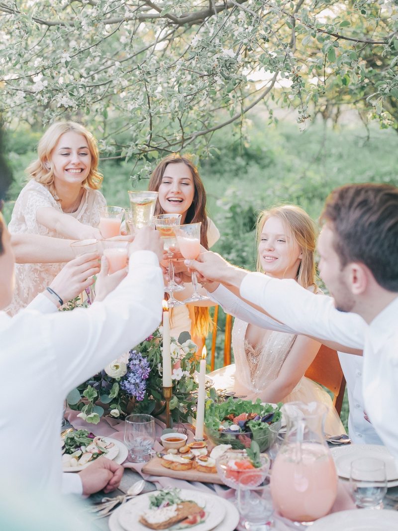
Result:
{"label": "white shirt sleeve on the dark-haired man's outstretched arm at right", "polygon": [[310,293],[295,280],[248,273],[240,295],[297,333],[364,348],[367,325],[359,315],[339,312],[332,297]]}

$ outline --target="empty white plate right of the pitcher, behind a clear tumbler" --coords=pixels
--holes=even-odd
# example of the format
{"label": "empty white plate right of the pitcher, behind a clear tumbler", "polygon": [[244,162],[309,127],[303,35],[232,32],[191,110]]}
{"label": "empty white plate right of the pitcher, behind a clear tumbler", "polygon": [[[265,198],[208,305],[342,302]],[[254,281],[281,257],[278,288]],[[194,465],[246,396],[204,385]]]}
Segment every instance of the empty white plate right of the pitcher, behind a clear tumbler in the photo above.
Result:
{"label": "empty white plate right of the pitcher, behind a clear tumbler", "polygon": [[330,451],[340,477],[350,478],[350,467],[354,459],[371,457],[381,459],[386,464],[388,486],[392,486],[390,482],[398,480],[394,458],[385,446],[378,444],[350,444],[349,446],[331,448]]}

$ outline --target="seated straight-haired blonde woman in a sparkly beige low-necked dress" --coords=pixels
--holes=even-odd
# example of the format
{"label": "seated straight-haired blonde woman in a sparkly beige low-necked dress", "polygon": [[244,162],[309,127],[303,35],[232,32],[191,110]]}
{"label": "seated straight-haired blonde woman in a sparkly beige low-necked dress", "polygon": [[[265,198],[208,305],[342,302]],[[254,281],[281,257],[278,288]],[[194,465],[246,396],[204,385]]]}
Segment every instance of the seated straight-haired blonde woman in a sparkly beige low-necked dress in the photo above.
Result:
{"label": "seated straight-haired blonde woman in a sparkly beige low-necked dress", "polygon": [[[257,221],[257,270],[275,278],[296,279],[301,286],[316,292],[315,241],[314,224],[301,208],[284,205],[265,210]],[[228,307],[228,304],[223,304],[218,285],[212,283],[207,288],[210,292],[219,292],[218,297],[214,296],[214,292],[213,298],[218,298],[217,302],[227,311],[240,317],[244,314],[245,319],[250,320],[250,310],[243,301],[235,303],[235,308]],[[228,298],[231,300],[226,295],[224,301]],[[253,321],[256,322],[256,319]],[[278,323],[270,328],[236,318],[232,330],[235,370],[229,366],[214,371],[215,381],[221,378],[225,383],[228,375],[235,391],[250,400],[324,402],[328,407],[326,432],[344,433],[330,396],[304,376],[321,346],[319,342],[295,333],[278,331]]]}

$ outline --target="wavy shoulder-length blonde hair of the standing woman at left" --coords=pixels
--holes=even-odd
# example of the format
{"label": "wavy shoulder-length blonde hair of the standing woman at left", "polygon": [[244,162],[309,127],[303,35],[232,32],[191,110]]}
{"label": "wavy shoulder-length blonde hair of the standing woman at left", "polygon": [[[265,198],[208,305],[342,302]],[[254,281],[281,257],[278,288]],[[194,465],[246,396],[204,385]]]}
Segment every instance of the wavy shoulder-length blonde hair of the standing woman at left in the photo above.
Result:
{"label": "wavy shoulder-length blonde hair of the standing woman at left", "polygon": [[[54,186],[54,167],[51,163],[51,153],[61,135],[72,131],[81,134],[86,139],[91,153],[91,167],[88,177],[83,181],[82,186],[98,190],[101,187],[103,176],[98,172],[98,146],[97,140],[83,125],[76,122],[55,122],[51,125],[39,141],[37,147],[38,158],[26,169],[28,178],[34,179],[40,184],[47,186],[50,193],[57,198]],[[49,164],[49,168],[48,168]],[[46,166],[47,165],[47,166]]]}

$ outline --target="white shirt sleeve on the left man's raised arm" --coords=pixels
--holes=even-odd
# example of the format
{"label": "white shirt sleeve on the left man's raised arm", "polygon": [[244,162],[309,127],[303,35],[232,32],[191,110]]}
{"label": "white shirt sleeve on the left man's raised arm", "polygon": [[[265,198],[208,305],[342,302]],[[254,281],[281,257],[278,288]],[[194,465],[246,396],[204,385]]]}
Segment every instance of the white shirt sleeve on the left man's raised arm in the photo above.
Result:
{"label": "white shirt sleeve on the left man's raised arm", "polygon": [[30,312],[29,328],[35,340],[40,338],[43,359],[54,364],[61,396],[158,327],[163,290],[157,256],[149,251],[136,251],[130,256],[126,278],[104,301],[94,302],[88,309],[46,316]]}

